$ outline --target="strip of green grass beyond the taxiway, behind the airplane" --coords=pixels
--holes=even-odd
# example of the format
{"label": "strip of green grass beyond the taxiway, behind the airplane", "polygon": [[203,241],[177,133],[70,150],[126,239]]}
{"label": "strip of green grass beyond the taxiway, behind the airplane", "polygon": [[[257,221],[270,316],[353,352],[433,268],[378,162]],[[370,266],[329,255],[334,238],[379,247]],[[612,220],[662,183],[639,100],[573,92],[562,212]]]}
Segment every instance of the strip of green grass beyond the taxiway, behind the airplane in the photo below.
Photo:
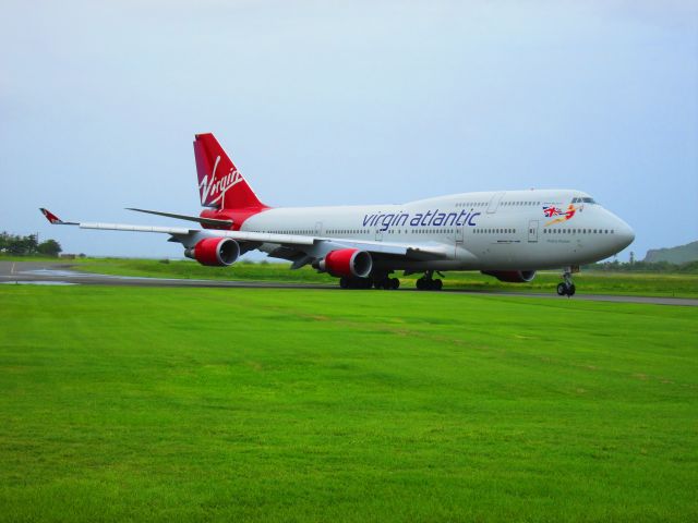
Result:
{"label": "strip of green grass beyond the taxiway, behind the airplane", "polygon": [[[238,263],[231,267],[204,267],[190,260],[164,264],[153,259],[87,259],[79,270],[117,276],[190,278],[213,280],[251,280],[313,282],[337,284],[337,279],[317,273],[310,267],[290,270],[289,264]],[[400,277],[402,285],[413,289],[418,276]],[[480,272],[446,272],[445,289],[506,290],[512,292],[554,293],[559,283],[557,272],[539,272],[530,283],[503,283]],[[628,294],[643,296],[698,297],[698,275],[628,273],[589,271],[575,275],[577,292],[583,294]]]}

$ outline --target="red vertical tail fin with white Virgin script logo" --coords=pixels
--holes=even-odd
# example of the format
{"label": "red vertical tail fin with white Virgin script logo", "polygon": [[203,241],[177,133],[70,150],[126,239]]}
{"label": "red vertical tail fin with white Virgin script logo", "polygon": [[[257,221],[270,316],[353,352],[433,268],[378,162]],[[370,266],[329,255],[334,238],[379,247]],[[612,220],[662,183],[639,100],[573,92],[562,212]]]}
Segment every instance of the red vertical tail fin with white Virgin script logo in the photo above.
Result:
{"label": "red vertical tail fin with white Virgin script logo", "polygon": [[194,158],[201,205],[218,209],[266,208],[213,134],[197,134]]}

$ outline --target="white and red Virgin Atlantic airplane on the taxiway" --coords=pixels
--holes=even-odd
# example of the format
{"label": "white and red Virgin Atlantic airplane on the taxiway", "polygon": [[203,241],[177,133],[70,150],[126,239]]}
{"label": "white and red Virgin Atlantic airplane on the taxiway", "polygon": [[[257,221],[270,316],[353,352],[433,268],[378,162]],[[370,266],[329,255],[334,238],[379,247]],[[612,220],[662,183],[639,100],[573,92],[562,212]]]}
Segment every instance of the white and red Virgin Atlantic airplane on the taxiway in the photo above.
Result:
{"label": "white and red Virgin Atlantic airplane on the taxiway", "polygon": [[198,216],[129,208],[196,222],[200,228],[67,222],[52,224],[169,234],[184,255],[229,266],[262,251],[311,265],[342,289],[398,289],[392,275],[421,273],[419,290],[441,290],[448,270],[479,270],[506,282],[530,282],[541,269],[563,269],[557,294],[573,296],[580,265],[607,258],[635,233],[589,194],[525,190],[452,194],[407,204],[274,208],[263,204],[213,134],[196,134]]}

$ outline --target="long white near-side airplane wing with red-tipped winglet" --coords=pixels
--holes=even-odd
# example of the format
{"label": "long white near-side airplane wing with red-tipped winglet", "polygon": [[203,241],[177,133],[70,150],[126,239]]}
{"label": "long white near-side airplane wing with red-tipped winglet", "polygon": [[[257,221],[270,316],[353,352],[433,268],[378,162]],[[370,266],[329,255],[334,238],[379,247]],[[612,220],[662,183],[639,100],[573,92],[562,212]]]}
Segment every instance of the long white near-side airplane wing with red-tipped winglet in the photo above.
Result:
{"label": "long white near-side airplane wing with red-tipped winglet", "polygon": [[[299,255],[308,258],[305,263],[298,265],[302,267],[310,263],[313,258],[322,258],[327,253],[338,248],[358,248],[368,251],[372,254],[388,256],[406,256],[410,259],[438,259],[447,256],[446,247],[435,244],[433,246],[414,246],[399,242],[375,242],[352,239],[338,239],[330,236],[308,236],[298,234],[276,234],[267,232],[246,232],[246,231],[222,231],[216,229],[190,229],[184,227],[156,227],[156,226],[134,226],[128,223],[101,223],[101,222],[76,222],[62,221],[48,209],[40,209],[44,216],[52,224],[57,226],[77,226],[81,229],[96,229],[108,231],[127,231],[127,232],[156,232],[161,234],[170,234],[170,241],[179,242],[184,247],[193,247],[201,240],[206,238],[230,238],[241,244],[249,244],[248,250],[256,248],[262,244],[278,245],[279,250],[284,250],[293,257]],[[168,216],[163,214],[164,216]],[[218,221],[218,220],[216,220]],[[288,257],[288,256],[280,256]],[[294,268],[298,268],[294,267]]]}

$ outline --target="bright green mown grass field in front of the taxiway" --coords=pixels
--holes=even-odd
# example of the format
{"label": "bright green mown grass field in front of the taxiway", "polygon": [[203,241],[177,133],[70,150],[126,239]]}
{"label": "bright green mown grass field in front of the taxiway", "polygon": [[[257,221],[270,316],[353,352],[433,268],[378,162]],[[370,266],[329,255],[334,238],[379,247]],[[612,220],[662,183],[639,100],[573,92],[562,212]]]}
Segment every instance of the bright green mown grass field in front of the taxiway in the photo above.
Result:
{"label": "bright green mown grass field in front of the taxiway", "polygon": [[696,521],[698,308],[0,285],[1,521]]}

